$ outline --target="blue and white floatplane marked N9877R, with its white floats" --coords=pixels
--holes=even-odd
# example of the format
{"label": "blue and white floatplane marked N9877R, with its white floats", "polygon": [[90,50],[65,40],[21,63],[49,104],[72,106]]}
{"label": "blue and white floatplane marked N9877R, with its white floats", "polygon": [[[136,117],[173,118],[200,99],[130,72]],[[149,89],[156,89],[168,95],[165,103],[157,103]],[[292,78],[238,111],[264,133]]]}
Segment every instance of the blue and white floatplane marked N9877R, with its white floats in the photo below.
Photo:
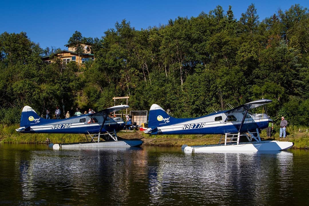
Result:
{"label": "blue and white floatplane marked N9877R, with its white floats", "polygon": [[[241,136],[246,136],[248,141],[252,139],[257,143],[262,143],[259,132],[268,127],[269,118],[266,114],[252,114],[250,109],[271,103],[270,99],[260,99],[249,102],[230,110],[218,111],[206,116],[197,118],[177,119],[169,116],[159,105],[153,104],[149,111],[148,129],[144,132],[147,134],[222,134],[225,135],[226,143],[233,143],[229,147],[220,148],[218,145],[199,146],[199,148],[190,147],[191,151],[204,150],[239,150],[239,149],[256,149],[257,150],[282,150],[293,146],[293,143],[284,143],[272,141],[269,144],[253,145],[239,143]],[[264,143],[265,141],[263,141]],[[280,144],[279,144],[280,143]],[[236,146],[237,147],[236,147]],[[276,145],[276,146],[275,146]],[[278,146],[279,145],[279,146]],[[282,146],[281,146],[282,145]],[[217,146],[217,147],[215,147]],[[241,146],[241,147],[240,147]],[[192,149],[193,148],[193,149]]]}

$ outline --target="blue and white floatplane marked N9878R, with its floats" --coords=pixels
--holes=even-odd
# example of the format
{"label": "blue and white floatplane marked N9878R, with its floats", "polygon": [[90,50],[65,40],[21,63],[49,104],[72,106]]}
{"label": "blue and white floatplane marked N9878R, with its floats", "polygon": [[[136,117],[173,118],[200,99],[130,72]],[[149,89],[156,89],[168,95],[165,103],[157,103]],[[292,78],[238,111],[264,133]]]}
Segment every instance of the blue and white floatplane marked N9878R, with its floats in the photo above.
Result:
{"label": "blue and white floatplane marked N9878R, with its floats", "polygon": [[[138,146],[142,144],[142,141],[130,142],[128,141],[123,144],[123,141],[118,141],[116,132],[123,129],[125,123],[123,119],[110,118],[108,114],[111,112],[119,111],[122,109],[129,108],[128,105],[118,105],[109,107],[102,111],[72,116],[67,119],[44,119],[36,114],[36,112],[29,106],[23,107],[20,118],[20,128],[16,129],[17,132],[23,133],[69,133],[69,134],[85,134],[89,135],[95,143],[100,142],[100,138],[108,141],[113,139],[111,146]],[[104,143],[106,143],[106,141]],[[115,143],[118,142],[117,144]],[[65,145],[65,144],[62,144]],[[80,144],[79,144],[80,145]],[[108,144],[84,144],[86,147],[99,147],[108,146]],[[76,147],[78,145],[75,145]],[[72,146],[71,146],[72,147]],[[63,147],[62,147],[63,148]]]}

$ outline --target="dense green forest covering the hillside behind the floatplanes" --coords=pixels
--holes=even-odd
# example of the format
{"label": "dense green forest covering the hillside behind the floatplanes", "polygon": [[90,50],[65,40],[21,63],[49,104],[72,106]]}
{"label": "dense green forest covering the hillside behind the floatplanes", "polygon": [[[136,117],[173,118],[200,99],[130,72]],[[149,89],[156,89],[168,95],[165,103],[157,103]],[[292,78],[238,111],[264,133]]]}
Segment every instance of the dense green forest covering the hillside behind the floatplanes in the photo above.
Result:
{"label": "dense green forest covering the hillside behind the floatplanes", "polygon": [[68,42],[77,50],[78,42],[90,43],[95,57],[80,69],[74,62],[43,64],[55,48],[40,48],[26,32],[2,33],[0,122],[19,123],[25,105],[39,114],[57,105],[99,111],[114,106],[114,96],[130,96],[131,110],[156,103],[175,117],[272,99],[267,112],[274,120],[309,124],[307,8],[295,4],[260,21],[254,4],[239,20],[231,6],[217,6],[167,22],[138,31],[123,20],[101,39],[76,31]]}

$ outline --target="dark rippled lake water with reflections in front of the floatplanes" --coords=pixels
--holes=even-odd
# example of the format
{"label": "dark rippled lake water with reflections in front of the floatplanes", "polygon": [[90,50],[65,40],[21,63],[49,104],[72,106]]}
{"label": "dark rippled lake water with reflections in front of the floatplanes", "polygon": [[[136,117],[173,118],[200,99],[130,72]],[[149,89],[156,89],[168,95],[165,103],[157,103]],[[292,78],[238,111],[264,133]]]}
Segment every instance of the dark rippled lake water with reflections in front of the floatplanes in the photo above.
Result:
{"label": "dark rippled lake water with reflections in front of the floatplanes", "polygon": [[0,205],[308,205],[309,152],[0,144]]}

